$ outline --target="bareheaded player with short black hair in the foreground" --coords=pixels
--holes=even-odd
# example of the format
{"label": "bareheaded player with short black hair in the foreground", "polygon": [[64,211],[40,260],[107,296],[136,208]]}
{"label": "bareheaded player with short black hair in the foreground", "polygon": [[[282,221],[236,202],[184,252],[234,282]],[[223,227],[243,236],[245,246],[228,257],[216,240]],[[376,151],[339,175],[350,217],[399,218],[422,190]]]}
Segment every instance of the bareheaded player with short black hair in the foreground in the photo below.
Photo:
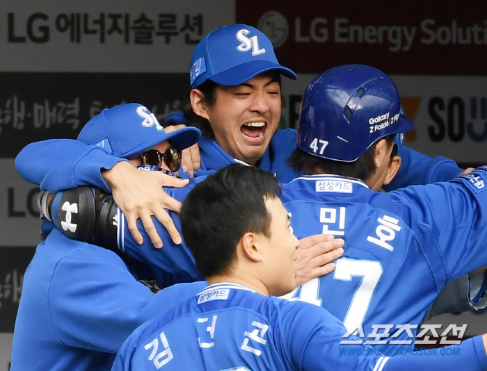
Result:
{"label": "bareheaded player with short black hair in the foreground", "polygon": [[[458,345],[458,356],[382,356],[340,345],[346,329],[323,308],[272,296],[294,287],[298,245],[279,194],[271,174],[238,164],[189,192],[182,232],[209,286],[139,327],[112,371],[487,368],[481,336]],[[353,356],[344,356],[351,347]]]}

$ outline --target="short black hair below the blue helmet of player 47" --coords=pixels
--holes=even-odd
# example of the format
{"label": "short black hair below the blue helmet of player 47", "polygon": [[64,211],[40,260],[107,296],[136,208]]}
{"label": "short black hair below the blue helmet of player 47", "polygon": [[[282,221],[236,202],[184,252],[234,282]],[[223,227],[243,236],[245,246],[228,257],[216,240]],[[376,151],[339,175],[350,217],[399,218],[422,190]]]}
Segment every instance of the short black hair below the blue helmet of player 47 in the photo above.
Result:
{"label": "short black hair below the blue helmet of player 47", "polygon": [[[387,142],[388,148],[394,144],[395,138],[396,134],[388,135],[383,138]],[[304,174],[316,174],[317,169],[320,169],[321,171],[326,172],[326,174],[349,176],[351,178],[367,181],[376,171],[376,163],[374,161],[376,145],[377,142],[374,142],[374,144],[365,151],[365,154],[351,163],[320,158],[308,154],[302,149],[296,148],[289,158],[289,165],[297,172],[302,172]],[[397,147],[392,151],[390,161],[392,161],[392,158],[397,154],[396,148]]]}

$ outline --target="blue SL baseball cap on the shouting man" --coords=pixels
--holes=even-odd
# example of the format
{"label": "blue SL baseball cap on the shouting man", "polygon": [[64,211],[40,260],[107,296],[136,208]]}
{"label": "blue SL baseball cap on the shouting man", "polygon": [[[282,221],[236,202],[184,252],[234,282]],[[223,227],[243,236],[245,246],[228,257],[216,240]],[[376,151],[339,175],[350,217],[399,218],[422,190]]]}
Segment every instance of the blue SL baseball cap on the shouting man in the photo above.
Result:
{"label": "blue SL baseball cap on the shouting man", "polygon": [[289,79],[298,76],[279,64],[271,40],[255,27],[232,24],[211,31],[193,51],[191,88],[207,80],[239,85],[266,71],[277,70]]}

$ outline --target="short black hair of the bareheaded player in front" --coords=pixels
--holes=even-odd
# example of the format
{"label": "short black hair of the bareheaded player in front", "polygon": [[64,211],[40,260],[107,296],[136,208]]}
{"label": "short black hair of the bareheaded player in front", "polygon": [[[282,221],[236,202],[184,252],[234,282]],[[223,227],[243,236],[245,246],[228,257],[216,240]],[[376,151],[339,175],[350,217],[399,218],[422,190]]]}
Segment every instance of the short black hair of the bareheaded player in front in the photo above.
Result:
{"label": "short black hair of the bareheaded player in front", "polygon": [[231,271],[245,233],[271,237],[265,201],[280,192],[272,174],[240,164],[223,167],[189,192],[179,218],[184,242],[202,277]]}

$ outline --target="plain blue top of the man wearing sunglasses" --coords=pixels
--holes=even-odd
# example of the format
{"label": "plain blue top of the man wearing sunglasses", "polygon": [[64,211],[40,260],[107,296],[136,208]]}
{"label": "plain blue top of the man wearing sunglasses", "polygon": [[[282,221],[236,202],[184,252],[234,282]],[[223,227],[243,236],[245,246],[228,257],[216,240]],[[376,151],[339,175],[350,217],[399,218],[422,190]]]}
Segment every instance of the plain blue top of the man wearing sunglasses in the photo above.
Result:
{"label": "plain blue top of the man wearing sunglasses", "polygon": [[154,295],[114,252],[54,229],[24,276],[10,370],[108,371],[132,331],[205,286]]}

